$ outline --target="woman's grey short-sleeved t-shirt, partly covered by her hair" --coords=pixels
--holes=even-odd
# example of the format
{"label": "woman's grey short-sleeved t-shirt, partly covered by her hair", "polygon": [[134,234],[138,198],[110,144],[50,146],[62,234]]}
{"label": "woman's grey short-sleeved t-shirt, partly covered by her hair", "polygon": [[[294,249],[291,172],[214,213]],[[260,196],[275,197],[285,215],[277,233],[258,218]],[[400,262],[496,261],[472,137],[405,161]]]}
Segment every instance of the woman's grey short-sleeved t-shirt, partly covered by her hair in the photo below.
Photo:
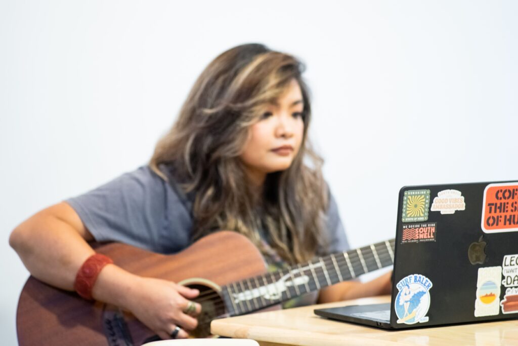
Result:
{"label": "woman's grey short-sleeved t-shirt, partly covered by her hair", "polygon": [[[191,210],[148,165],[66,202],[96,241],[116,241],[163,254],[191,244]],[[326,225],[329,247],[322,254],[349,250],[332,195]]]}

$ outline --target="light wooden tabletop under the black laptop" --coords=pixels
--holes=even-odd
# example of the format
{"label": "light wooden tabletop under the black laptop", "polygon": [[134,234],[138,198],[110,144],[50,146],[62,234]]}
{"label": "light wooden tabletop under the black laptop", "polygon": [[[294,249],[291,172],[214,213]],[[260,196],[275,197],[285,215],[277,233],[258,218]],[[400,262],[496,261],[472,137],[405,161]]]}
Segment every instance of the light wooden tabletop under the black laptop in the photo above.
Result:
{"label": "light wooden tabletop under the black laptop", "polygon": [[[390,301],[389,296],[319,305],[334,307]],[[257,340],[262,346],[287,345],[518,345],[518,321],[387,331],[324,319],[317,306],[268,311],[212,321],[213,334]]]}

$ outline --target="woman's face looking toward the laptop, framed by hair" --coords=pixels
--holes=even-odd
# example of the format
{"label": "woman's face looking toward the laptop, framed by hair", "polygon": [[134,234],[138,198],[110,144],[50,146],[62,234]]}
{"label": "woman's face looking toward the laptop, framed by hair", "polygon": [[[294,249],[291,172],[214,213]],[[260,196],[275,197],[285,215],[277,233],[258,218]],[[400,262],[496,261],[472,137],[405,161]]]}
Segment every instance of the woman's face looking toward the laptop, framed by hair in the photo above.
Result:
{"label": "woman's face looking toward the laptop, framed by hair", "polygon": [[257,185],[264,182],[267,173],[290,167],[303,138],[303,110],[302,93],[293,79],[277,102],[265,105],[260,120],[250,127],[240,158]]}

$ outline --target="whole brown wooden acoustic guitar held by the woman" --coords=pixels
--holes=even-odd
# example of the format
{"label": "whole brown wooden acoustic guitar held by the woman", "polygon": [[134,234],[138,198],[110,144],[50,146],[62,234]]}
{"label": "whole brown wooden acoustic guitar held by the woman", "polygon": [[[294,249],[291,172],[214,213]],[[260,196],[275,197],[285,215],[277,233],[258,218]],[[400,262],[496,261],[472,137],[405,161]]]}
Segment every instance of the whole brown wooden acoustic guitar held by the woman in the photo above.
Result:
{"label": "whole brown wooden acoustic guitar held by the woman", "polygon": [[[175,255],[161,255],[119,243],[101,244],[98,253],[132,273],[198,288],[202,305],[196,337],[210,335],[210,321],[278,305],[394,263],[394,240],[316,258],[267,272],[257,248],[236,232],[221,231]],[[31,345],[141,345],[159,340],[130,313],[30,278],[20,295],[18,342]]]}

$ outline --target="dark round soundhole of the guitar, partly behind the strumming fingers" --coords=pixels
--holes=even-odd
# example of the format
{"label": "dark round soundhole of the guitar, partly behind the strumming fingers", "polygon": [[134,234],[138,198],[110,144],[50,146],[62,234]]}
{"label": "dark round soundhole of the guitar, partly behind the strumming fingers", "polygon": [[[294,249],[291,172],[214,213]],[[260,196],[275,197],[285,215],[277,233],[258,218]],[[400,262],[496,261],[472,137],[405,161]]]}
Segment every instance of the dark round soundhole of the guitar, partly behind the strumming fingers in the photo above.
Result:
{"label": "dark round soundhole of the guitar, partly behind the strumming fingers", "polygon": [[218,316],[226,313],[225,304],[220,294],[213,288],[201,285],[186,285],[191,288],[199,289],[199,296],[194,299],[202,305],[202,313],[198,315],[198,326],[191,331],[191,335],[196,338],[210,337],[210,322]]}

